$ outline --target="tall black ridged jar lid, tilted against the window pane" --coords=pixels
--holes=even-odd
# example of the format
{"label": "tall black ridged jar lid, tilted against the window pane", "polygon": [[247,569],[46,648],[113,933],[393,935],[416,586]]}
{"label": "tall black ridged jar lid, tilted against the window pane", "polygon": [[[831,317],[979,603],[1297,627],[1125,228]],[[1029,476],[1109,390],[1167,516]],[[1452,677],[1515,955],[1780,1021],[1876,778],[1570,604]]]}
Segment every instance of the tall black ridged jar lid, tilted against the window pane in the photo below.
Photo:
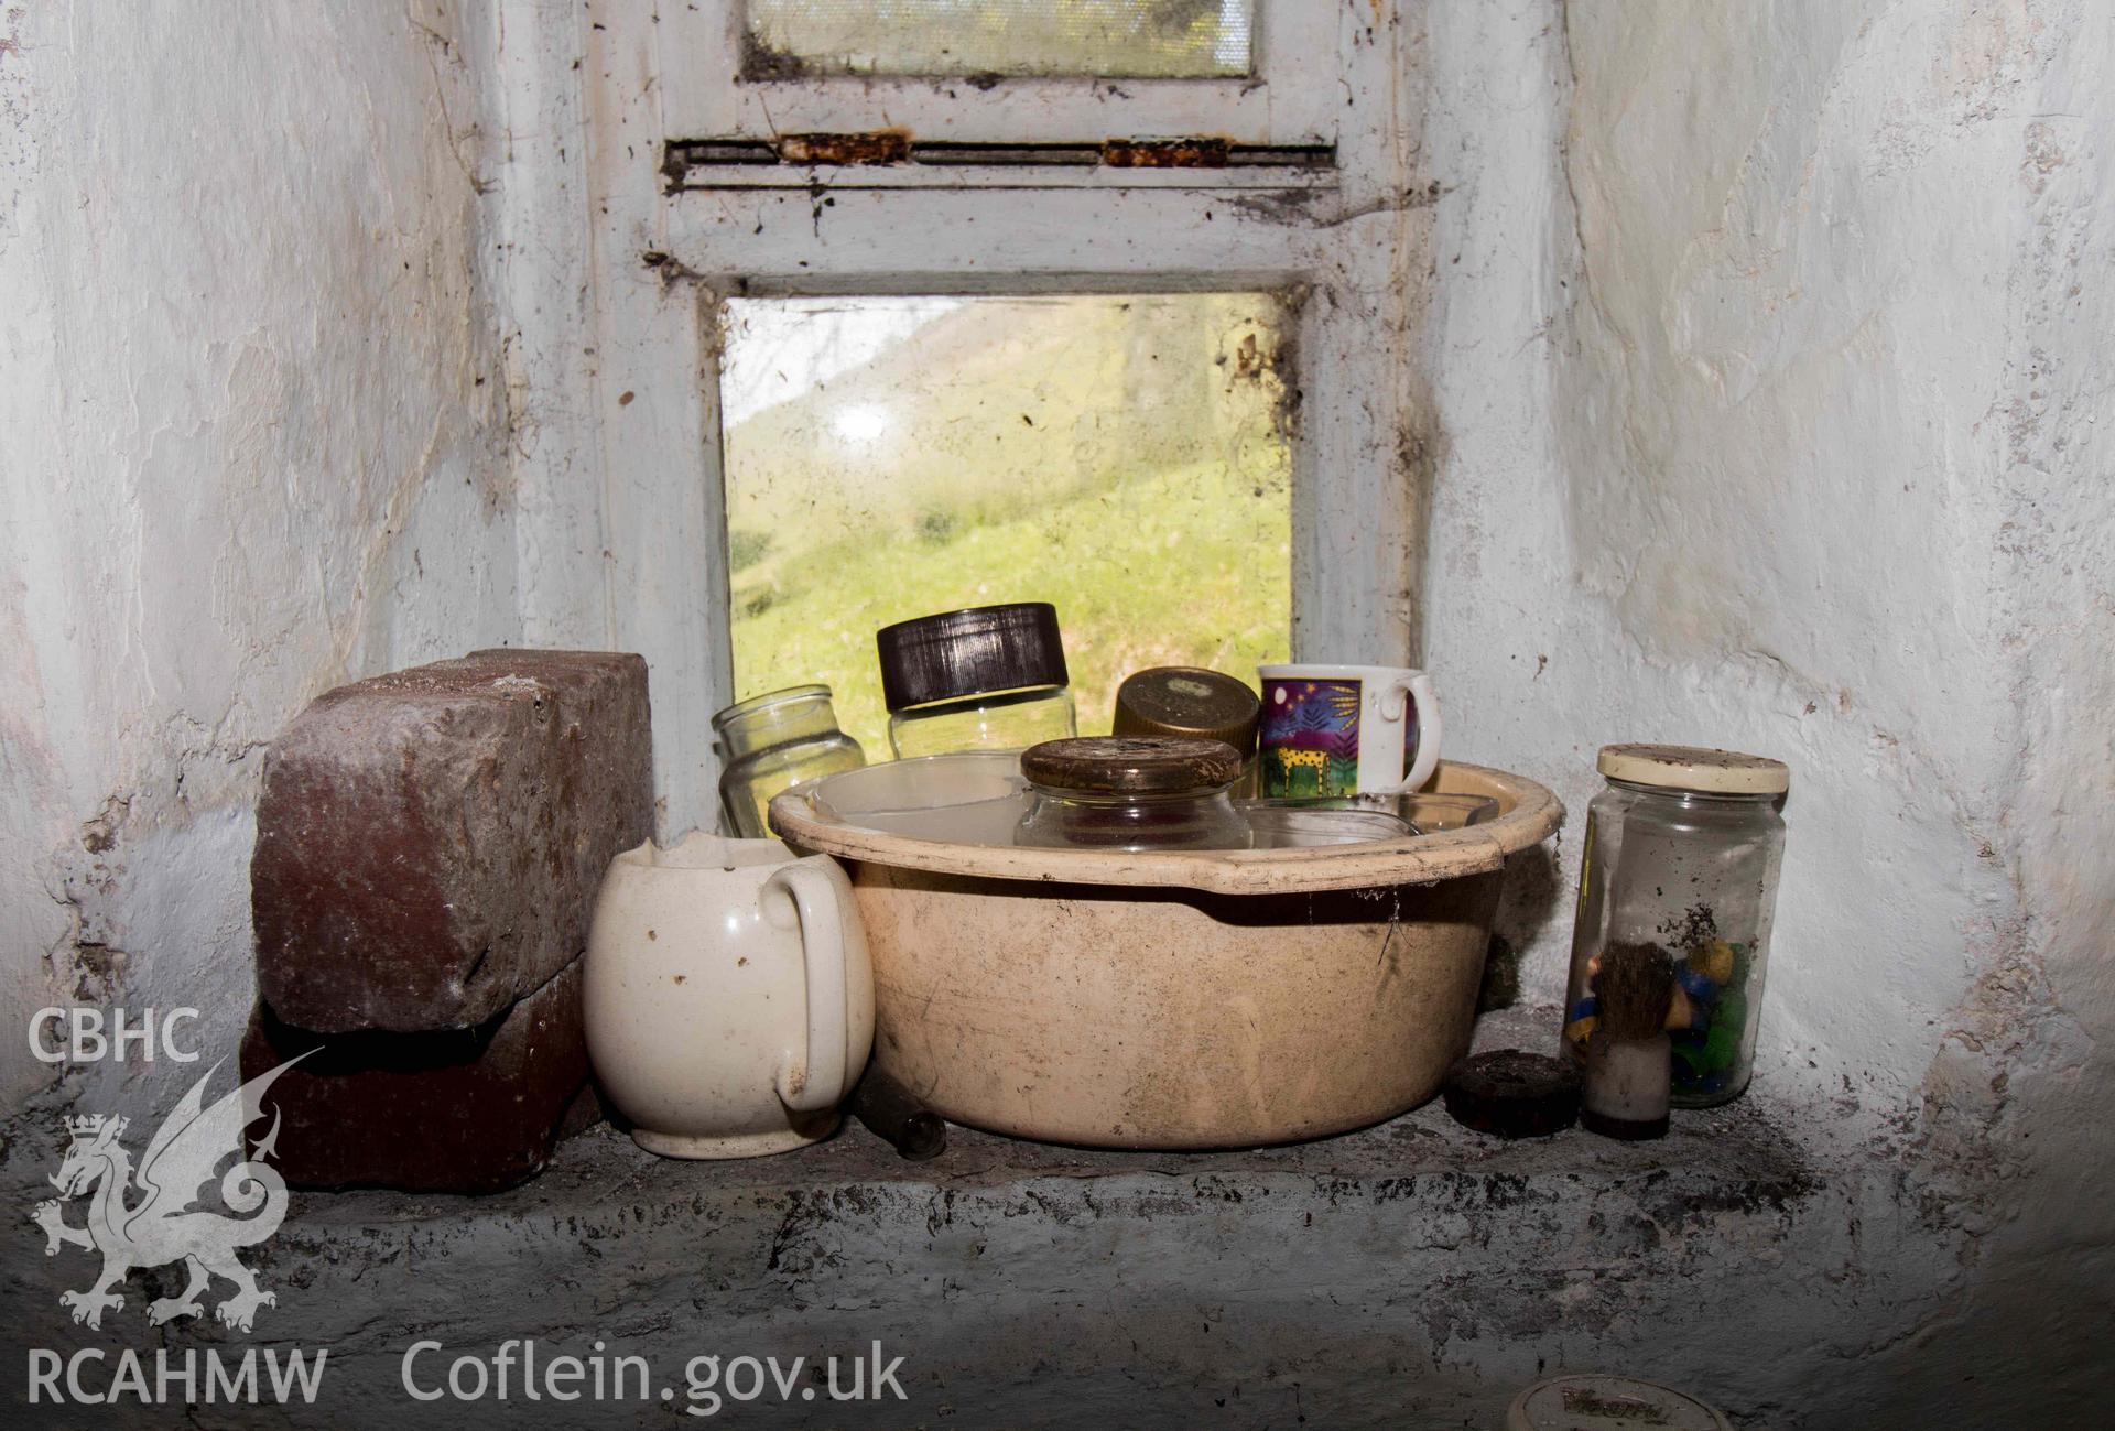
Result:
{"label": "tall black ridged jar lid, tilted against the window pane", "polygon": [[1024,600],[897,621],[873,632],[888,714],[986,691],[1066,685],[1058,607]]}

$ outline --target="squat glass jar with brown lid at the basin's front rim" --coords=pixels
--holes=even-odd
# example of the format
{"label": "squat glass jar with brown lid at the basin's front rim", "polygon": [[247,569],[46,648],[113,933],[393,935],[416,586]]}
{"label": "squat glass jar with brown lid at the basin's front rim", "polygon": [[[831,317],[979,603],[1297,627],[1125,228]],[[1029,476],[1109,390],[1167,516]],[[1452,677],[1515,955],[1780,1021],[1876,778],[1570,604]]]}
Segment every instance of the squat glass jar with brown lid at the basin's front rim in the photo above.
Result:
{"label": "squat glass jar with brown lid at the basin's front rim", "polygon": [[1043,850],[1246,850],[1227,791],[1242,755],[1222,740],[1087,736],[1022,752],[1028,814],[1013,843]]}

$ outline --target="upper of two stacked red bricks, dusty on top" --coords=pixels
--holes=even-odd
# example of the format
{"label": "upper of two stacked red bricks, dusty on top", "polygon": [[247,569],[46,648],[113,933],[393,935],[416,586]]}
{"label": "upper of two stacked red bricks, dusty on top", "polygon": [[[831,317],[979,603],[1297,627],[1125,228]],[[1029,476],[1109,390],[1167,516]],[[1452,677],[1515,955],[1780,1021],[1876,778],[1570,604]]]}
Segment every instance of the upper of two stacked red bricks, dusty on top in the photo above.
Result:
{"label": "upper of two stacked red bricks, dusty on top", "polygon": [[321,1034],[486,1023],[586,947],[603,871],[651,826],[637,655],[476,651],[343,685],[264,759],[258,993]]}

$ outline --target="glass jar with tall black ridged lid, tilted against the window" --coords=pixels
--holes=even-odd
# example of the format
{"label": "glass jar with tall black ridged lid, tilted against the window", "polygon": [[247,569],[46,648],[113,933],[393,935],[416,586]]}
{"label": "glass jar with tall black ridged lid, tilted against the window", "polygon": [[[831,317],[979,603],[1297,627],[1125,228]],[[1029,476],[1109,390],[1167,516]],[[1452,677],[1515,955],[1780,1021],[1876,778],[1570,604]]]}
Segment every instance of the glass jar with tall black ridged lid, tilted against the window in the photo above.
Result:
{"label": "glass jar with tall black ridged lid, tilted against the window", "polygon": [[1058,609],[1047,600],[971,607],[873,634],[899,761],[954,750],[1026,750],[1079,727]]}

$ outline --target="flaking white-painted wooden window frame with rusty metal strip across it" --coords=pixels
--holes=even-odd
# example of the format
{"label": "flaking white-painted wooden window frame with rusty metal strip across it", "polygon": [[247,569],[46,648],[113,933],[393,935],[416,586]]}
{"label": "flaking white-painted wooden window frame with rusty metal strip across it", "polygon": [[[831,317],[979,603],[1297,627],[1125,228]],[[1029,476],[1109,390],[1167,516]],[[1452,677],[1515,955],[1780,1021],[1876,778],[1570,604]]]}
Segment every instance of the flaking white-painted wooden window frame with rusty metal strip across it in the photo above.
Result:
{"label": "flaking white-painted wooden window frame with rusty metal strip across it", "polygon": [[[1292,296],[1294,657],[1415,659],[1423,425],[1413,349],[1432,194],[1413,175],[1419,116],[1402,13],[1409,0],[1282,0],[1328,17],[1335,44],[1320,53],[1332,59],[1330,72],[1322,78],[1309,63],[1301,85],[1332,101],[1322,120],[1309,123],[1316,110],[1292,106],[1288,112],[1303,114],[1292,127],[1277,123],[1284,114],[1265,114],[1261,127],[1237,133],[1254,144],[1322,142],[1332,146],[1332,165],[1096,165],[1062,175],[1017,165],[945,173],[783,165],[772,182],[751,173],[749,182],[715,184],[711,173],[706,182],[696,171],[677,173],[668,159],[677,142],[751,137],[740,131],[753,123],[742,104],[700,85],[700,55],[713,42],[732,55],[725,2],[700,0],[658,17],[611,0],[588,11],[580,34],[592,66],[580,97],[592,150],[584,169],[586,311],[552,321],[552,338],[577,334],[586,357],[552,357],[535,380],[577,383],[592,423],[577,450],[556,446],[563,438],[552,433],[554,450],[525,463],[529,501],[518,518],[531,638],[580,638],[601,628],[609,645],[649,662],[664,833],[717,818],[711,714],[734,698],[717,410],[717,321],[730,296]],[[721,91],[732,85],[725,70],[713,74]],[[816,99],[823,108],[799,112],[804,120],[833,116],[852,131],[895,125],[907,110],[890,106],[916,93],[918,123],[969,142],[1170,137],[1178,120],[1176,133],[1229,133],[1248,123],[1239,108],[1216,131],[1210,108],[1155,101],[1134,110],[1108,85],[1100,89],[1110,93],[1074,101],[1096,89],[1091,80],[1072,82],[1074,99],[1053,97],[1049,80],[977,89],[831,76],[814,85],[871,91],[876,108],[827,95]],[[1144,87],[1121,89],[1132,85]],[[1239,104],[1239,87],[1163,80],[1151,89],[1165,85]],[[1269,85],[1275,91],[1282,80]],[[948,118],[964,93],[969,108]],[[1191,95],[1187,104],[1201,101]],[[778,112],[774,99],[772,116]],[[1096,129],[1077,129],[1085,116]],[[973,127],[986,120],[998,127]],[[700,129],[711,123],[734,133]],[[569,197],[544,199],[558,205]],[[533,213],[522,228],[541,233]],[[567,302],[516,294],[518,306]],[[577,471],[596,473],[599,490],[567,478]]]}

